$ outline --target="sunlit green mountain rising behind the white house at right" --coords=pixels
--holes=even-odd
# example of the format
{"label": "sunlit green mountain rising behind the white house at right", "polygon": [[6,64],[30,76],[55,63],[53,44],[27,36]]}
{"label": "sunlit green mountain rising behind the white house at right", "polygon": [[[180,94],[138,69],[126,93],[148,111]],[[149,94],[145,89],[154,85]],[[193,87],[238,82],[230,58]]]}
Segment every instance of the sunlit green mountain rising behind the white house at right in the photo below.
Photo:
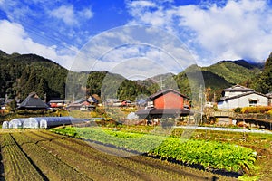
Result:
{"label": "sunlit green mountain rising behind the white house at right", "polygon": [[[180,72],[177,75],[171,75],[177,82],[180,92],[190,96],[192,91],[188,75],[193,71],[196,65],[188,67],[185,71]],[[203,80],[205,82],[205,93],[207,99],[219,100],[221,90],[226,89],[234,84],[241,84],[255,89],[256,81],[262,72],[264,67],[263,63],[249,63],[244,60],[238,61],[221,61],[210,65],[209,67],[197,67],[201,71]],[[265,76],[267,77],[267,76]],[[193,77],[191,79],[194,79]],[[198,78],[195,78],[198,79]],[[167,81],[163,82],[167,85]],[[168,85],[170,86],[170,85]],[[204,88],[203,88],[204,89]]]}

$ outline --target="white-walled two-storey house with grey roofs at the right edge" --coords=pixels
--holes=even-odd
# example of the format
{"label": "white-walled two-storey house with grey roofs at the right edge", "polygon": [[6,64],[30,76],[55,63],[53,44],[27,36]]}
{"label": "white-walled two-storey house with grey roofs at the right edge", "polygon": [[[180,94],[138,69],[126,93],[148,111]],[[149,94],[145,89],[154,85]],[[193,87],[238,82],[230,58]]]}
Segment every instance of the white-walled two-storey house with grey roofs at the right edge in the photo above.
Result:
{"label": "white-walled two-storey house with grey roofs at the right edge", "polygon": [[230,110],[249,106],[268,106],[270,98],[241,85],[234,85],[222,91],[218,101],[219,110]]}

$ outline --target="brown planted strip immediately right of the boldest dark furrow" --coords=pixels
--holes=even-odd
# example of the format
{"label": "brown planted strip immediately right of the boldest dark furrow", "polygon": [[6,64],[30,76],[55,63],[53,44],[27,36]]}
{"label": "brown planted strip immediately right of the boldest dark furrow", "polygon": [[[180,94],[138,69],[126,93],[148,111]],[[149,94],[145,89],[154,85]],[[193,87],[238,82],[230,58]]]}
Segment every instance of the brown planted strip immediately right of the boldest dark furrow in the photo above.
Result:
{"label": "brown planted strip immediately right of the boldest dark furrow", "polygon": [[13,137],[21,145],[24,152],[50,180],[90,180],[77,170],[65,164],[60,158],[35,144],[34,140],[24,133],[14,133]]}

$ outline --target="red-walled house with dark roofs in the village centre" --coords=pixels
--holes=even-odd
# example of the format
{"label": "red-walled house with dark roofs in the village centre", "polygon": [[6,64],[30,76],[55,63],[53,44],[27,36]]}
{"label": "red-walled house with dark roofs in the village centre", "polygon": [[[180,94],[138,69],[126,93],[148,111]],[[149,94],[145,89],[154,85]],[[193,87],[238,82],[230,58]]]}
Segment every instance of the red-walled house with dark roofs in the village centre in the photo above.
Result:
{"label": "red-walled house with dark roofs in the village centre", "polygon": [[178,118],[190,114],[184,108],[188,98],[177,90],[167,89],[152,94],[147,99],[147,107],[138,110],[136,114],[141,119]]}

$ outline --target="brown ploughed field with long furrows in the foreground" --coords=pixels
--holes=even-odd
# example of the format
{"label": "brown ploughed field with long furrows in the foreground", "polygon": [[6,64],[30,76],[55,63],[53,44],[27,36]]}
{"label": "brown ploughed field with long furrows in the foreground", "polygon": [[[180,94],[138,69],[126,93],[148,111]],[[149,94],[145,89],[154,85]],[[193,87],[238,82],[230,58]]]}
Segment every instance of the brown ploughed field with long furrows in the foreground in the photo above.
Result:
{"label": "brown ploughed field with long furrows in the foreground", "polygon": [[80,139],[47,130],[1,136],[2,180],[235,180],[165,160],[116,157],[119,149],[90,147]]}

